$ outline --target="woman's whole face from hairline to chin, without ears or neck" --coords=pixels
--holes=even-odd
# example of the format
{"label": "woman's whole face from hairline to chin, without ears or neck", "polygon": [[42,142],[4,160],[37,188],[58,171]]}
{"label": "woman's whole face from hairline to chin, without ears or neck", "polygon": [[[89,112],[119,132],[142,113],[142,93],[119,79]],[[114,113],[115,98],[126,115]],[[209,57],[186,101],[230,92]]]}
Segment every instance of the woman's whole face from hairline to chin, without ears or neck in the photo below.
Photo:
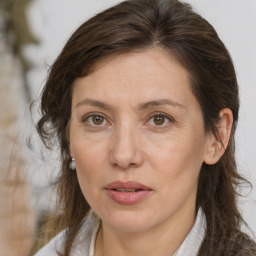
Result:
{"label": "woman's whole face from hairline to chin, without ears or neck", "polygon": [[70,151],[84,197],[114,230],[194,219],[209,137],[187,71],[165,50],[109,59],[73,84]]}

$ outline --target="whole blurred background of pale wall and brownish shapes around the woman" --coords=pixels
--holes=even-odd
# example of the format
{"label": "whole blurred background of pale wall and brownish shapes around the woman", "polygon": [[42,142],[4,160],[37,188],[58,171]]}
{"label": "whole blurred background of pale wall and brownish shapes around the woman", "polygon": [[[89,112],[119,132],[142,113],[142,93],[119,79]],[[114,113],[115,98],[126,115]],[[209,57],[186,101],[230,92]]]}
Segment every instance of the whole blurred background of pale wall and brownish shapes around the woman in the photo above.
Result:
{"label": "whole blurred background of pale wall and brownish shapes around the woman", "polygon": [[[58,154],[47,152],[30,112],[47,70],[71,33],[116,0],[0,0],[0,256],[32,255],[54,204]],[[240,84],[237,139],[241,212],[256,233],[256,1],[186,0],[217,30]],[[249,232],[247,230],[247,232]]]}

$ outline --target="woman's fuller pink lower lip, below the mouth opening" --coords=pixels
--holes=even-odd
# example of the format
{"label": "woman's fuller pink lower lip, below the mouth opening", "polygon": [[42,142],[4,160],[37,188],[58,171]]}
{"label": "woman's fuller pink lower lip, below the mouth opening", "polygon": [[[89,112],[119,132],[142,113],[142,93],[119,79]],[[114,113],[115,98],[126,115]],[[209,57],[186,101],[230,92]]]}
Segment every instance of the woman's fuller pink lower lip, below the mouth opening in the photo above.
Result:
{"label": "woman's fuller pink lower lip, below the mouth opening", "polygon": [[139,190],[137,192],[120,192],[112,189],[107,189],[109,197],[118,204],[132,205],[137,204],[145,199],[152,191]]}

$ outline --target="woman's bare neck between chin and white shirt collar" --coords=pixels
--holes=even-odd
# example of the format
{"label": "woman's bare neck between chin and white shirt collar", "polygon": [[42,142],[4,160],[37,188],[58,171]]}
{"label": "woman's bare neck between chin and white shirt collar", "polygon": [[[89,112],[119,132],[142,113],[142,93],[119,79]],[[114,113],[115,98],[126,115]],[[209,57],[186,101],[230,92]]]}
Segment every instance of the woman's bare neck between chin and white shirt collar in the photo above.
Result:
{"label": "woman's bare neck between chin and white shirt collar", "polygon": [[118,232],[101,225],[96,240],[96,256],[171,256],[180,247],[195,221],[194,214],[173,216],[151,230]]}

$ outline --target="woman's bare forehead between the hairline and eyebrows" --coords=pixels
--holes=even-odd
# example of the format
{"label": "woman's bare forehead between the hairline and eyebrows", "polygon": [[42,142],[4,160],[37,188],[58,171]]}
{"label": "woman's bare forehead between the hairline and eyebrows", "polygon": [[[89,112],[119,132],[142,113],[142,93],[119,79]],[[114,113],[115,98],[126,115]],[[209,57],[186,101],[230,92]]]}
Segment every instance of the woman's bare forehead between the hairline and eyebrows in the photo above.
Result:
{"label": "woman's bare forehead between the hairline and eyebrows", "polygon": [[74,81],[73,89],[75,98],[97,95],[113,100],[122,96],[152,100],[169,96],[184,102],[192,96],[187,70],[162,48],[100,61],[90,75]]}

